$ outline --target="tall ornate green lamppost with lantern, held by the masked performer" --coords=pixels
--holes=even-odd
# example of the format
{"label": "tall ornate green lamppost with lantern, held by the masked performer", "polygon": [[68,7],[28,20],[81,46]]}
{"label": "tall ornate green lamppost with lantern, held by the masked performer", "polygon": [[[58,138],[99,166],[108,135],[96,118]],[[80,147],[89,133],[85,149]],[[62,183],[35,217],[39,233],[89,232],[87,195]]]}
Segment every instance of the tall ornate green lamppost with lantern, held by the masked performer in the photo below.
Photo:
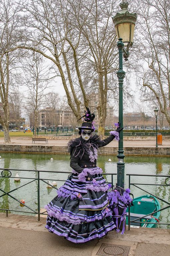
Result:
{"label": "tall ornate green lamppost with lantern, held by the masked performer", "polygon": [[[119,50],[119,70],[117,71],[117,77],[119,82],[119,123],[121,123],[121,127],[123,127],[123,79],[125,77],[125,72],[123,71],[123,57],[125,61],[128,60],[129,48],[133,45],[133,35],[137,19],[136,13],[129,13],[128,5],[126,0],[122,1],[122,3],[119,4],[121,11],[112,17],[119,40],[117,43]],[[125,155],[123,154],[123,130],[120,132],[119,138],[117,185],[124,187],[125,163],[123,159]]]}

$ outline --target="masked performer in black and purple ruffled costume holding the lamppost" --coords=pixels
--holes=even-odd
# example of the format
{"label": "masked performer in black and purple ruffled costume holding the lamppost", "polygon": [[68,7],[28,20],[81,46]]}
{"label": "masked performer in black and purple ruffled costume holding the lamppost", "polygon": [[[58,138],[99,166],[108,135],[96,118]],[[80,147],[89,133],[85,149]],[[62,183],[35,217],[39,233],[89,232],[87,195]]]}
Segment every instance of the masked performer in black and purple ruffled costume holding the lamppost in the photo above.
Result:
{"label": "masked performer in black and purple ruffled costume holding the lamppost", "polygon": [[122,129],[118,125],[116,131],[101,140],[98,135],[92,135],[95,114],[87,108],[83,117],[80,137],[70,141],[68,147],[72,174],[58,189],[58,195],[45,206],[48,213],[45,227],[73,243],[101,238],[116,227],[109,208],[109,186],[96,160],[98,148],[113,139],[118,141]]}

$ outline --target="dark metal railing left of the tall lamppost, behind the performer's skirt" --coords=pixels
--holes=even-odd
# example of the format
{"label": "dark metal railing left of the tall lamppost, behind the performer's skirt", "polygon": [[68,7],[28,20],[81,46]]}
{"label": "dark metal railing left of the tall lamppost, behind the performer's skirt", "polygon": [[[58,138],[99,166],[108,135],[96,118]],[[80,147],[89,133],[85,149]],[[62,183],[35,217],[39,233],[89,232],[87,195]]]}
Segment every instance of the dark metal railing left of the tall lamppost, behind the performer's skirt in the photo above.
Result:
{"label": "dark metal railing left of the tall lamppost, behind the performer's skirt", "polygon": [[[12,189],[10,191],[7,191],[5,192],[2,188],[0,188],[0,191],[3,193],[0,195],[0,198],[5,196],[5,195],[8,195],[10,196],[12,199],[16,200],[17,202],[19,202],[20,204],[26,206],[26,208],[28,208],[30,211],[22,211],[22,210],[16,210],[16,209],[6,209],[6,208],[0,208],[0,211],[6,211],[6,217],[8,217],[8,211],[16,211],[16,212],[24,212],[26,214],[36,214],[38,215],[38,221],[40,221],[40,214],[41,215],[47,215],[46,211],[44,212],[40,212],[40,182],[44,182],[46,184],[49,185],[49,183],[47,182],[47,180],[51,181],[51,180],[54,180],[54,179],[44,179],[44,178],[41,178],[40,177],[40,174],[41,173],[62,173],[62,174],[71,174],[72,172],[62,172],[62,171],[43,171],[43,170],[23,170],[23,169],[5,169],[5,168],[0,168],[1,170],[1,174],[0,174],[0,179],[1,178],[10,178],[10,179],[14,179],[16,177],[12,176],[12,171],[24,171],[24,172],[35,172],[37,175],[37,178],[35,177],[17,177],[18,179],[28,179],[28,180],[31,180],[27,183],[25,183],[24,185],[21,185],[15,189]],[[117,173],[102,173],[103,176],[105,175],[110,175],[111,176],[111,183],[113,185],[113,175],[117,175]],[[38,205],[38,210],[34,210],[33,208],[31,208],[30,206],[28,206],[27,204],[21,202],[19,199],[15,198],[14,196],[11,195],[12,192],[20,189],[21,187],[24,187],[30,183],[32,183],[33,181],[37,181],[37,205]],[[62,179],[55,179],[55,181],[63,181],[65,182],[65,180],[62,180]],[[108,183],[108,182],[107,182]],[[109,182],[110,183],[110,182]],[[58,188],[56,188],[55,186],[51,185],[53,188],[55,188],[56,190],[58,190]]]}

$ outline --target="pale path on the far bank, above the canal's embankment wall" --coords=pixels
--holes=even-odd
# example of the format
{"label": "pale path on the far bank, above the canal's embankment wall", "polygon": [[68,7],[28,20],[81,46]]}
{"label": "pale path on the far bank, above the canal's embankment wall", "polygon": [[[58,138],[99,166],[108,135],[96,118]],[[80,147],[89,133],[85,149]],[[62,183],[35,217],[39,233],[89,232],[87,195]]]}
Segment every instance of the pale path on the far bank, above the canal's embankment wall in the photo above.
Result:
{"label": "pale path on the far bank, above the canal's embankment wall", "polygon": [[[67,145],[69,140],[48,140],[48,145],[51,146],[65,146]],[[0,144],[4,142],[3,138],[0,138]],[[32,138],[29,137],[11,137],[11,143],[16,145],[31,145]],[[124,141],[124,147],[155,147],[156,141],[155,140],[136,140],[133,141]],[[35,145],[46,145],[45,142],[35,142]],[[117,141],[113,140],[109,146],[117,147]],[[158,145],[158,147],[170,147],[170,140],[163,140],[162,145]]]}

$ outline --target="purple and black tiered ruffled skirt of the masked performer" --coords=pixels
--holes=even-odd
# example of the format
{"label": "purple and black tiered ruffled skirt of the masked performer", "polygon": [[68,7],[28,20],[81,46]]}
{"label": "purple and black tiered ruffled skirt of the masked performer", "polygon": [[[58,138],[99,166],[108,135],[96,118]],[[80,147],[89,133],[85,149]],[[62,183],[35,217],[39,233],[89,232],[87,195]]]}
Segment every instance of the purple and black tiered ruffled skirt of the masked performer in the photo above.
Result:
{"label": "purple and black tiered ruffled skirt of the masked performer", "polygon": [[[87,168],[86,168],[87,169]],[[88,169],[93,181],[86,181],[73,171],[48,203],[46,228],[73,243],[101,238],[115,229],[107,196],[108,185],[102,169]],[[85,173],[86,174],[86,173]]]}

